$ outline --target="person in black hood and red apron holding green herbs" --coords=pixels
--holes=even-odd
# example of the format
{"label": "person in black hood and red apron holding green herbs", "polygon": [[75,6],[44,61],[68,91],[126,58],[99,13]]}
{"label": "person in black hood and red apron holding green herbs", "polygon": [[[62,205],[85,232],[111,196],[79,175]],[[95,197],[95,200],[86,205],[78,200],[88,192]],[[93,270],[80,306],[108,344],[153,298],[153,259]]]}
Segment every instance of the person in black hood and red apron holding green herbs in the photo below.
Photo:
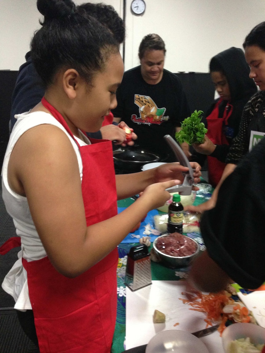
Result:
{"label": "person in black hood and red apron holding green herbs", "polygon": [[232,140],[238,133],[243,108],[257,92],[257,86],[249,78],[249,66],[240,48],[232,47],[215,55],[210,61],[210,73],[220,98],[205,114],[208,132],[204,143],[193,147],[200,164],[207,155],[209,182],[215,187],[222,176]]}

